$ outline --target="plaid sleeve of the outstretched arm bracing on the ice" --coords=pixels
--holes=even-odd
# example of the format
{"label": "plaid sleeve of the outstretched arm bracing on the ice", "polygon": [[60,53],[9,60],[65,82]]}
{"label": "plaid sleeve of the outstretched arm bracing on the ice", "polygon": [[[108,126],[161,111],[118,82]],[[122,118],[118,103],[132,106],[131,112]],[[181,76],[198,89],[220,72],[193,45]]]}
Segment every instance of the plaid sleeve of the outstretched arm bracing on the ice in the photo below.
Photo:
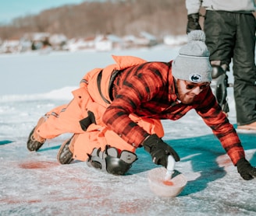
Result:
{"label": "plaid sleeve of the outstretched arm bracing on the ice", "polygon": [[228,118],[222,112],[210,88],[203,98],[204,102],[197,107],[197,113],[203,118],[205,124],[212,128],[213,133],[219,138],[229,158],[236,165],[239,159],[245,157],[240,139],[233,125],[229,123]]}

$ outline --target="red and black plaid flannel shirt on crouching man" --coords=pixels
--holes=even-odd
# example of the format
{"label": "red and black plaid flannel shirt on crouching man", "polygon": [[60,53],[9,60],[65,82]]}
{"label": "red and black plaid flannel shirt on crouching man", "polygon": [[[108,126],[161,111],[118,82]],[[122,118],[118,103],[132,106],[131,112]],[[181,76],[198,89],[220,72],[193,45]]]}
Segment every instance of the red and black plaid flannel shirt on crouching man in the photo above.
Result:
{"label": "red and black plaid flannel shirt on crouching man", "polygon": [[178,120],[195,109],[219,138],[234,165],[244,157],[240,139],[222,113],[210,87],[202,91],[191,105],[177,100],[172,62],[147,62],[120,71],[113,83],[112,96],[114,99],[105,111],[103,121],[130,145],[140,146],[149,135],[130,120],[130,113],[153,119]]}

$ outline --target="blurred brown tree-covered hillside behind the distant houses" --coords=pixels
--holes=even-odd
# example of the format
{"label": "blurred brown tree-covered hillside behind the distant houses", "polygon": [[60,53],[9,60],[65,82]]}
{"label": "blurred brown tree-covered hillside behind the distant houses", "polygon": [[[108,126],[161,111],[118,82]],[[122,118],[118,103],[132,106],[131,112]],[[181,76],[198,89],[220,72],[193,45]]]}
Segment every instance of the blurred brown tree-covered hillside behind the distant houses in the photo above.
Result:
{"label": "blurred brown tree-covered hillside behind the distant houses", "polygon": [[146,31],[162,38],[186,33],[185,0],[108,0],[83,2],[44,10],[0,26],[2,40],[20,38],[24,33],[63,33],[68,38],[96,34],[138,34]]}

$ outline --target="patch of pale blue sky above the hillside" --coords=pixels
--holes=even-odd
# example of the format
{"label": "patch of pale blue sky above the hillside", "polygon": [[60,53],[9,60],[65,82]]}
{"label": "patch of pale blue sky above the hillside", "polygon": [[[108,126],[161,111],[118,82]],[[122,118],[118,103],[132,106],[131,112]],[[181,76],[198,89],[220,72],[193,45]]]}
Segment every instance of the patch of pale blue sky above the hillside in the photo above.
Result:
{"label": "patch of pale blue sky above the hillside", "polygon": [[85,0],[0,0],[0,23],[10,23],[20,16],[35,15],[45,9],[81,2]]}

